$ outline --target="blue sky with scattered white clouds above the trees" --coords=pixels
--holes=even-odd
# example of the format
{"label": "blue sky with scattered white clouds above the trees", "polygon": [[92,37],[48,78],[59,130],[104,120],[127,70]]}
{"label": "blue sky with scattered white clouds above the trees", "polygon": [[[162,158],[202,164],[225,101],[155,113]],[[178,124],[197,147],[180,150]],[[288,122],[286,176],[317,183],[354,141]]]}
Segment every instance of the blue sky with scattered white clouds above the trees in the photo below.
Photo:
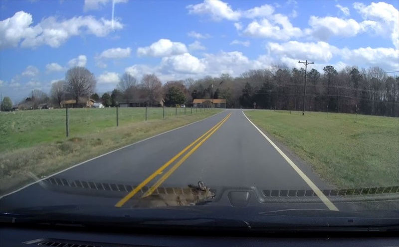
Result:
{"label": "blue sky with scattered white clouds above the trees", "polygon": [[102,94],[127,72],[162,83],[275,64],[399,71],[399,1],[1,0],[0,92],[49,93],[85,66]]}

